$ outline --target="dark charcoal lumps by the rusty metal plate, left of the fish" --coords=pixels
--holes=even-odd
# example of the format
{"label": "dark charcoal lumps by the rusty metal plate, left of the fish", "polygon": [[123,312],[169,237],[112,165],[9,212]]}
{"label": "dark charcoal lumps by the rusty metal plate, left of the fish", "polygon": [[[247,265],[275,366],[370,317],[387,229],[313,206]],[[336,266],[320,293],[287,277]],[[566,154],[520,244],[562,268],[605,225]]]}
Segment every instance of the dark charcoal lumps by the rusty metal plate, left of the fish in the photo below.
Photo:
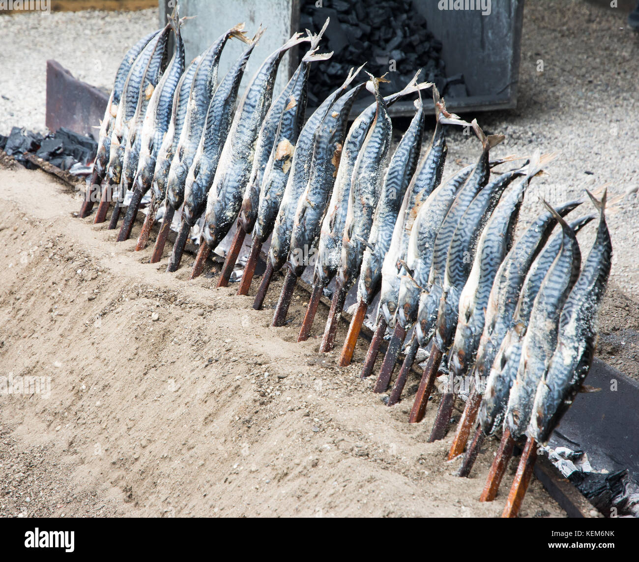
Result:
{"label": "dark charcoal lumps by the rusty metal plate, left of the fish", "polygon": [[24,157],[24,153],[28,152],[47,160],[53,166],[68,170],[75,164],[91,164],[95,160],[98,143],[91,137],[82,136],[65,127],[47,136],[13,127],[8,137],[0,136],[0,150],[13,156],[25,168],[35,168]]}

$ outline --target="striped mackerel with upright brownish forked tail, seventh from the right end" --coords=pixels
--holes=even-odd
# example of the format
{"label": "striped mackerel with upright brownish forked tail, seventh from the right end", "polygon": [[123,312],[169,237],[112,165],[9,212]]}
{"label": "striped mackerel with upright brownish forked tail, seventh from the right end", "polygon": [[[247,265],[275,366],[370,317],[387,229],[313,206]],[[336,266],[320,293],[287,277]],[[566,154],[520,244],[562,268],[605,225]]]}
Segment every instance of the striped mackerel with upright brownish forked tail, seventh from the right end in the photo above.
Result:
{"label": "striped mackerel with upright brownish forked tail, seventh from the right end", "polygon": [[420,347],[426,347],[433,334],[438,318],[440,304],[442,303],[443,286],[447,269],[447,260],[452,238],[455,235],[458,225],[463,218],[466,209],[472,203],[475,196],[488,184],[490,176],[491,162],[489,160],[490,149],[504,140],[503,135],[491,135],[486,137],[477,121],[473,120],[473,129],[482,143],[482,152],[479,155],[477,164],[472,169],[466,183],[459,190],[458,195],[443,219],[442,226],[435,238],[433,246],[433,265],[428,278],[428,285],[419,298],[419,308],[417,311],[417,324],[415,332]]}

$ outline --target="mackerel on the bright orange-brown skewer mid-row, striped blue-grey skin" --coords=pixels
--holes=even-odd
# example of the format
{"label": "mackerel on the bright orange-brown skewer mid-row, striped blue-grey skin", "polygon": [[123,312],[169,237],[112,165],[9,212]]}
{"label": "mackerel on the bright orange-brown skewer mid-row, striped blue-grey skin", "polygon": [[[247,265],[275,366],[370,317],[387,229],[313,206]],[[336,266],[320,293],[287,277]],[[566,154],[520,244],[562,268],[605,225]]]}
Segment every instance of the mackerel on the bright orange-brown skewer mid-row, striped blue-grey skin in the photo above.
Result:
{"label": "mackerel on the bright orange-brown skewer mid-row, striped blue-grey skin", "polygon": [[368,237],[369,246],[364,250],[362,267],[357,285],[357,300],[371,304],[380,290],[381,267],[389,251],[399,208],[406,189],[417,169],[424,136],[424,104],[421,96],[415,100],[415,115],[408,129],[397,144],[381,188],[380,202],[373,217],[373,227]]}

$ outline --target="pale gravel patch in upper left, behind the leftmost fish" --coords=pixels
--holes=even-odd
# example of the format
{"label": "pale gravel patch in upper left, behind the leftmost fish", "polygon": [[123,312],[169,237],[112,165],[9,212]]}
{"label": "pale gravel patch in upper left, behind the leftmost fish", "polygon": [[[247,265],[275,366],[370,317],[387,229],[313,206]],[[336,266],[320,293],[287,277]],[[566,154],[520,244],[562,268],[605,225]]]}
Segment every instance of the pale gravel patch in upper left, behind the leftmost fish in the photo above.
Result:
{"label": "pale gravel patch in upper left, behind the leftmost fish", "polygon": [[125,53],[157,27],[157,10],[0,16],[0,134],[8,134],[14,125],[46,130],[47,59],[111,91]]}

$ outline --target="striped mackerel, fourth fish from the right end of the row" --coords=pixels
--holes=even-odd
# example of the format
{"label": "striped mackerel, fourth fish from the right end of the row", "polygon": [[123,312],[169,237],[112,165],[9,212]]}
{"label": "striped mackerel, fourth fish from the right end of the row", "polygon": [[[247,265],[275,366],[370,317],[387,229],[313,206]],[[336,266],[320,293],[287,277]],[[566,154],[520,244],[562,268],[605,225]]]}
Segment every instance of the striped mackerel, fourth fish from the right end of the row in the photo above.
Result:
{"label": "striped mackerel, fourth fish from the right end of the row", "polygon": [[[557,207],[557,212],[565,217],[579,205],[581,201],[569,201]],[[490,373],[497,350],[506,332],[512,328],[514,311],[526,274],[537,254],[548,242],[556,224],[557,219],[551,212],[539,215],[516,240],[497,271],[495,283],[486,304],[484,331],[473,368],[475,389],[480,394],[484,392],[485,380]]]}

